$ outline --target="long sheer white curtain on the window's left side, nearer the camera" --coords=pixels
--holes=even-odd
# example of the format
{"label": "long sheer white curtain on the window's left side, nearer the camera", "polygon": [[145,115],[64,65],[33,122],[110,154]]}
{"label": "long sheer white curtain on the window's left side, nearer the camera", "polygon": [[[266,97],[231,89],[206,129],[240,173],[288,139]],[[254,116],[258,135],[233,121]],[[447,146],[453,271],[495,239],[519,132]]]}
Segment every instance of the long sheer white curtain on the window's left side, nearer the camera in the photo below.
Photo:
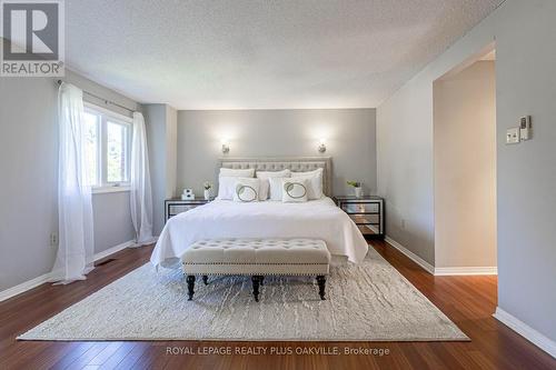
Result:
{"label": "long sheer white curtain on the window's left side, nearer the camera", "polygon": [[91,189],[87,182],[83,91],[62,82],[58,92],[58,221],[59,248],[52,280],[85,280],[93,269]]}

